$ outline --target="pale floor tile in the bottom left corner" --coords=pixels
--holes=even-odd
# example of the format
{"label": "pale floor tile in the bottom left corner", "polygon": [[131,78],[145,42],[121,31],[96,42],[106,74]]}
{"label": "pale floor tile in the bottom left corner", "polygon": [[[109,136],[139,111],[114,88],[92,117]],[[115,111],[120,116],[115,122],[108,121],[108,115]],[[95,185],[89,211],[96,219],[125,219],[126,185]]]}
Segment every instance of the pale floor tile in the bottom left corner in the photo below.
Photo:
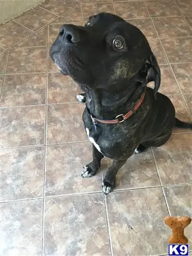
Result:
{"label": "pale floor tile in the bottom left corner", "polygon": [[1,255],[41,255],[42,203],[1,204]]}

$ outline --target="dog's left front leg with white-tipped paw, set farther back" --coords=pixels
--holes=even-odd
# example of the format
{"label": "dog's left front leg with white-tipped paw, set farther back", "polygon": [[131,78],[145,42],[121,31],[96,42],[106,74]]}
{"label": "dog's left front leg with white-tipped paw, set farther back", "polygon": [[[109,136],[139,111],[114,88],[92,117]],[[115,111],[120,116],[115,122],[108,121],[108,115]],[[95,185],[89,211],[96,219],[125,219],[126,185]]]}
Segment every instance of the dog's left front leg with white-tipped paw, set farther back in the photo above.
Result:
{"label": "dog's left front leg with white-tipped paw, set farther back", "polygon": [[83,171],[81,173],[82,177],[91,177],[94,176],[99,167],[101,166],[101,159],[104,157],[101,152],[97,150],[97,148],[93,145],[93,161],[86,166],[83,167]]}

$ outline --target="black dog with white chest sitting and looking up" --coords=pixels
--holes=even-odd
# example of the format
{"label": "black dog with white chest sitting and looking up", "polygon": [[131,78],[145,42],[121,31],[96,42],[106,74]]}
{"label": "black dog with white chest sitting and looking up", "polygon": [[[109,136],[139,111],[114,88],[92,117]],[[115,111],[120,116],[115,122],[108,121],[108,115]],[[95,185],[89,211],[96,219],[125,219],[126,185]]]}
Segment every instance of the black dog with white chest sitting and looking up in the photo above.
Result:
{"label": "black dog with white chest sitting and looking up", "polygon": [[[103,156],[113,159],[103,192],[115,187],[117,172],[135,149],[161,146],[174,126],[192,128],[175,117],[169,98],[157,93],[161,74],[156,57],[142,32],[122,18],[100,13],[85,27],[62,26],[50,55],[85,92],[78,98],[86,101],[83,120],[93,161],[82,177],[95,175]],[[150,81],[154,89],[147,87]]]}

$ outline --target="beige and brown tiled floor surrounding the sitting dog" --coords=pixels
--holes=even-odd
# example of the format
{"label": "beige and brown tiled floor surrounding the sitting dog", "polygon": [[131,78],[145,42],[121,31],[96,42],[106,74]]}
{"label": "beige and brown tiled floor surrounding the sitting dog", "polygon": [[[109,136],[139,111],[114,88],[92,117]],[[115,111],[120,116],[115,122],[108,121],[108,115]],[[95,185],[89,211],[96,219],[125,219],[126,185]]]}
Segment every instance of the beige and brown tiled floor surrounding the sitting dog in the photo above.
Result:
{"label": "beige and brown tiled floor surrounding the sitting dog", "polygon": [[[47,0],[1,26],[1,255],[164,255],[163,217],[191,216],[192,133],[174,130],[160,148],[133,155],[104,196],[82,127],[84,106],[48,50],[62,23],[98,11],[128,19],[147,36],[162,72],[160,92],[177,116],[192,115],[191,0]],[[123,179],[124,178],[124,179]],[[186,228],[192,250],[192,229]]]}

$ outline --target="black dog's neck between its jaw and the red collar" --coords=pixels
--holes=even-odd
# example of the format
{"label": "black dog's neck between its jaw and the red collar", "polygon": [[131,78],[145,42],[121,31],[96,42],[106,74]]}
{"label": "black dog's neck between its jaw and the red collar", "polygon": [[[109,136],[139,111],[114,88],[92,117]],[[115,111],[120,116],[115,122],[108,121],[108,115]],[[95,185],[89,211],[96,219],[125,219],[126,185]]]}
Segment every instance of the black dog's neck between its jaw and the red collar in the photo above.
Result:
{"label": "black dog's neck between its jaw and the red collar", "polygon": [[99,119],[114,119],[116,115],[126,114],[135,106],[145,88],[141,85],[126,86],[118,93],[103,89],[85,90],[86,107]]}

